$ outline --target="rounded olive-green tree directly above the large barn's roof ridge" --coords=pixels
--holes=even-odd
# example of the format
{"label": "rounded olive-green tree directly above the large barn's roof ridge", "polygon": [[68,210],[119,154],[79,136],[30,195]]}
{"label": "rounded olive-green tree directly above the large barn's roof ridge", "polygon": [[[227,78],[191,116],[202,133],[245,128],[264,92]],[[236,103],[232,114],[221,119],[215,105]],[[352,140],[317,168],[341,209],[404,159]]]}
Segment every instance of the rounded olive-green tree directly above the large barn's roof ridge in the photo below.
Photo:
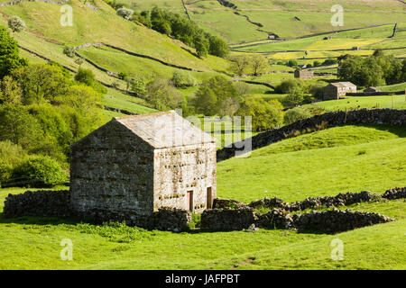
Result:
{"label": "rounded olive-green tree directly above the large barn's roof ridge", "polygon": [[152,103],[155,109],[166,111],[175,109],[182,102],[182,95],[170,81],[164,78],[155,78],[146,85],[147,102]]}

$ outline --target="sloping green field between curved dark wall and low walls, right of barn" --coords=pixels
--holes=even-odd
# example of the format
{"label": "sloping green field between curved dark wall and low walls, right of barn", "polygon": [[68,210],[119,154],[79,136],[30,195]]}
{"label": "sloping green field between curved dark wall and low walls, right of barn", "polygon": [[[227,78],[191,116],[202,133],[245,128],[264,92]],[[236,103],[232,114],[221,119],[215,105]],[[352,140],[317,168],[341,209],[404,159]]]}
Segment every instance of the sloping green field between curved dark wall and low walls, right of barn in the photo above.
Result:
{"label": "sloping green field between curved dark wall and low walls, right of barn", "polygon": [[[385,186],[404,185],[406,139],[331,148],[324,148],[326,144],[320,142],[322,148],[315,149],[312,144],[312,149],[278,154],[271,145],[254,150],[249,157],[220,162],[218,194],[245,202],[264,196],[291,202],[308,196],[379,192]],[[301,145],[306,147],[303,141]],[[291,149],[297,146],[293,143]]]}

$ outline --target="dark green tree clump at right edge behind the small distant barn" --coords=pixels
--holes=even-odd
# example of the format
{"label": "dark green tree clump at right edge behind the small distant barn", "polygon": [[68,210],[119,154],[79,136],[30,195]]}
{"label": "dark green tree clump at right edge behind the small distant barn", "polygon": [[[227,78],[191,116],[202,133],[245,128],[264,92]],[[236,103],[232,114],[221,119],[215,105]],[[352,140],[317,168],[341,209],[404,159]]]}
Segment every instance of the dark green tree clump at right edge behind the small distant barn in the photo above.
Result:
{"label": "dark green tree clump at right edge behind the small distant barn", "polygon": [[382,50],[368,58],[348,55],[338,65],[338,77],[360,86],[406,82],[406,59],[384,55]]}

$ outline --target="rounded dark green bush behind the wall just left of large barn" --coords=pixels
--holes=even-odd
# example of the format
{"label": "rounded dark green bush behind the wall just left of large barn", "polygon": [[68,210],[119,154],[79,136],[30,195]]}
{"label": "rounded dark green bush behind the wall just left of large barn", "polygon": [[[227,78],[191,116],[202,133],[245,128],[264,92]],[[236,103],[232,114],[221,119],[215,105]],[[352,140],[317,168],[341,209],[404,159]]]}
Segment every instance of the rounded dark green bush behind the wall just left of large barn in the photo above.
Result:
{"label": "rounded dark green bush behind the wall just left of large barn", "polygon": [[13,178],[20,179],[19,185],[29,187],[50,187],[67,181],[57,161],[47,156],[29,157],[14,168]]}

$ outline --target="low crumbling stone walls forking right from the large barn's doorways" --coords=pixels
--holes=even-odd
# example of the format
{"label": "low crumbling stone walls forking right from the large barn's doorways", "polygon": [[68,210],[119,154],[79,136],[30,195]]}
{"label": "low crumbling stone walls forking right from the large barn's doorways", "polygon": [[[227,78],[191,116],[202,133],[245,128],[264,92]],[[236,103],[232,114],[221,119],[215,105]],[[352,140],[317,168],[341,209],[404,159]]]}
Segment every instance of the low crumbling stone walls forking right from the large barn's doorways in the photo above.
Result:
{"label": "low crumbling stone walls forking right from the large barn's doorways", "polygon": [[[283,202],[280,198],[264,198],[246,204],[232,199],[215,199],[213,210],[201,215],[201,229],[240,230],[259,227],[265,229],[298,229],[340,232],[361,228],[394,219],[366,211],[339,211],[336,207],[359,202],[382,199],[406,198],[406,187],[393,188],[382,195],[369,191],[360,193],[338,193],[336,196],[309,197],[298,202]],[[322,206],[333,207],[330,211],[311,211],[304,214],[291,214]],[[255,212],[257,208],[270,208],[267,213]]]}

